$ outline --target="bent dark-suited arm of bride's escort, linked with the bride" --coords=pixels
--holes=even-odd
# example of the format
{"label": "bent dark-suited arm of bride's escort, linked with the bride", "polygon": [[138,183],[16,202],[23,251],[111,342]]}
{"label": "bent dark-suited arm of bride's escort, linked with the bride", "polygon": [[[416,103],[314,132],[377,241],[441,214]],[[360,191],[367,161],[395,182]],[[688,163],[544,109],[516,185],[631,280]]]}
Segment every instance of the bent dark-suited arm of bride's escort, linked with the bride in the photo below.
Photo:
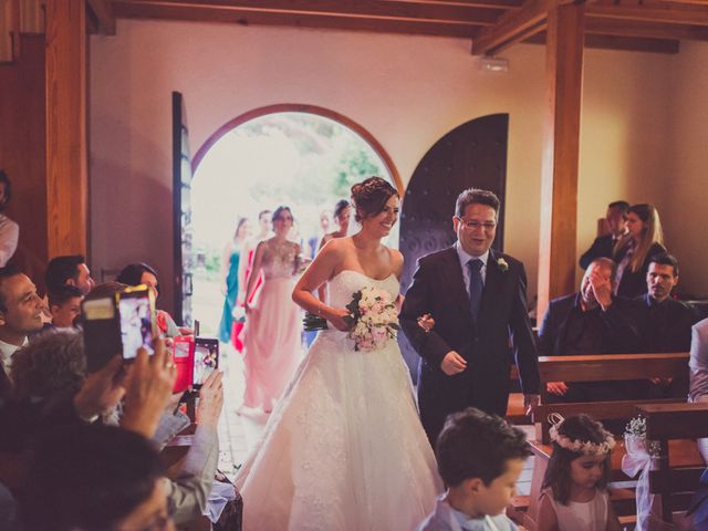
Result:
{"label": "bent dark-suited arm of bride's escort, linked with the bride", "polygon": [[[434,280],[430,269],[429,264],[426,267],[420,260],[418,261],[418,268],[413,275],[413,283],[406,292],[406,300],[400,310],[400,326],[418,355],[439,367],[445,355],[452,348],[435,332],[435,329],[426,332],[418,326],[418,317],[431,313]],[[438,315],[433,315],[433,319],[436,317]]]}

